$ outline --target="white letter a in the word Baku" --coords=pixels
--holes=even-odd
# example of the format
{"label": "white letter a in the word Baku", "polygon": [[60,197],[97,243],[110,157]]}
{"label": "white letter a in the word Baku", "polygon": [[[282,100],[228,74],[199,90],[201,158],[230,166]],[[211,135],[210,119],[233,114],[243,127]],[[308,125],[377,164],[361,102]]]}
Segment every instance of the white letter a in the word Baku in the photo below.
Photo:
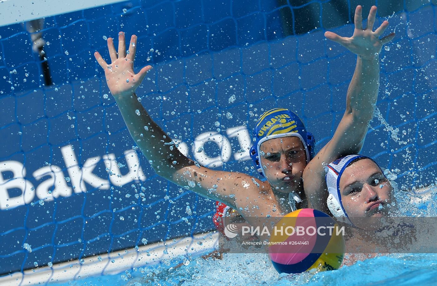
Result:
{"label": "white letter a in the word Baku", "polygon": [[[69,197],[71,196],[71,187],[68,186],[64,179],[64,172],[55,165],[44,166],[33,172],[36,180],[41,180],[45,176],[50,176],[49,179],[42,181],[36,188],[36,196],[45,201],[52,201],[54,197]],[[54,186],[51,193],[49,190]]]}

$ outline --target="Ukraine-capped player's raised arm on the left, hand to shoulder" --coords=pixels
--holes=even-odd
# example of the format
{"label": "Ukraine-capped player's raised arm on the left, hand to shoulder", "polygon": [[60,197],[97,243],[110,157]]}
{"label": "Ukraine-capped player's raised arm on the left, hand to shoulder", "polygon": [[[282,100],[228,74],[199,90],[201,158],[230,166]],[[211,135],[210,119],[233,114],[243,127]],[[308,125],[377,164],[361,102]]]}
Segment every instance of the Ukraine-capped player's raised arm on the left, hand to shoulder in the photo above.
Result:
{"label": "Ukraine-capped player's raised arm on the left, hand to shoulder", "polygon": [[[113,39],[108,38],[108,50],[112,61],[110,65],[98,52],[94,54],[105,71],[108,87],[133,140],[149,160],[156,174],[203,197],[221,201],[232,208],[238,209],[243,205],[244,209],[253,202],[252,196],[258,196],[267,185],[247,174],[202,167],[176,148],[170,136],[153,121],[135,95],[135,89],[152,68],[148,65],[137,74],[133,71],[136,40],[137,37],[133,35],[126,53],[125,35],[119,33],[117,54]],[[249,215],[248,211],[246,214]]]}

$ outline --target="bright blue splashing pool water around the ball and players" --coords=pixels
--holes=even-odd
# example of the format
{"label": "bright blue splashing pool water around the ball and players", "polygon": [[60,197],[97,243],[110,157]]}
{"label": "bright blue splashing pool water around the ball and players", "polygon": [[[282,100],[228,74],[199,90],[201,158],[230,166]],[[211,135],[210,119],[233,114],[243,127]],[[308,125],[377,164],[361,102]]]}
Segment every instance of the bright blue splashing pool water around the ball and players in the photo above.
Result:
{"label": "bright blue splashing pool water around the ball and players", "polygon": [[[420,204],[409,203],[406,193],[396,191],[404,213],[435,214],[437,188]],[[416,197],[416,196],[415,196]],[[175,267],[183,262],[180,267]],[[335,271],[316,274],[278,274],[266,254],[224,253],[223,259],[177,257],[160,266],[140,267],[117,275],[76,280],[67,285],[436,285],[437,254],[391,254],[358,261]],[[363,283],[365,281],[365,283]],[[66,285],[66,284],[58,284]]]}

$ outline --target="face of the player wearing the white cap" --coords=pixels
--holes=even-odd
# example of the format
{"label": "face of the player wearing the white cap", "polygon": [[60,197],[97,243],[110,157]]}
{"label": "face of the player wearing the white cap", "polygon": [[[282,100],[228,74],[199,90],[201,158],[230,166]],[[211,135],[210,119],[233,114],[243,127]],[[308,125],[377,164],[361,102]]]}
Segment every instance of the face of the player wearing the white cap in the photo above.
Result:
{"label": "face of the player wearing the white cap", "polygon": [[386,216],[395,203],[392,185],[369,159],[350,164],[340,177],[339,186],[343,208],[352,222],[353,217]]}

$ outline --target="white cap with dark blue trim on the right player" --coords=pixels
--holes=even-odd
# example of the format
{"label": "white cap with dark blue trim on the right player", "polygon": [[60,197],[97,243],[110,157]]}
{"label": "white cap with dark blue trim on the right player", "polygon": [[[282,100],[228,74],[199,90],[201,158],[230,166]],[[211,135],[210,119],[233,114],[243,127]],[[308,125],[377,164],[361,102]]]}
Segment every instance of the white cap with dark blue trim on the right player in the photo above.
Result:
{"label": "white cap with dark blue trim on the right player", "polygon": [[326,185],[328,186],[328,193],[329,193],[326,204],[328,205],[329,211],[331,211],[333,216],[335,216],[336,218],[340,218],[341,221],[346,222],[350,225],[354,225],[354,224],[352,223],[352,221],[350,221],[349,217],[347,216],[347,213],[343,208],[343,203],[341,202],[340,178],[344,170],[346,170],[347,166],[361,159],[369,159],[378,166],[378,164],[372,158],[369,158],[367,156],[348,155],[346,157],[341,157],[333,161],[332,163],[329,163],[325,167],[326,170],[325,180],[326,180]]}

